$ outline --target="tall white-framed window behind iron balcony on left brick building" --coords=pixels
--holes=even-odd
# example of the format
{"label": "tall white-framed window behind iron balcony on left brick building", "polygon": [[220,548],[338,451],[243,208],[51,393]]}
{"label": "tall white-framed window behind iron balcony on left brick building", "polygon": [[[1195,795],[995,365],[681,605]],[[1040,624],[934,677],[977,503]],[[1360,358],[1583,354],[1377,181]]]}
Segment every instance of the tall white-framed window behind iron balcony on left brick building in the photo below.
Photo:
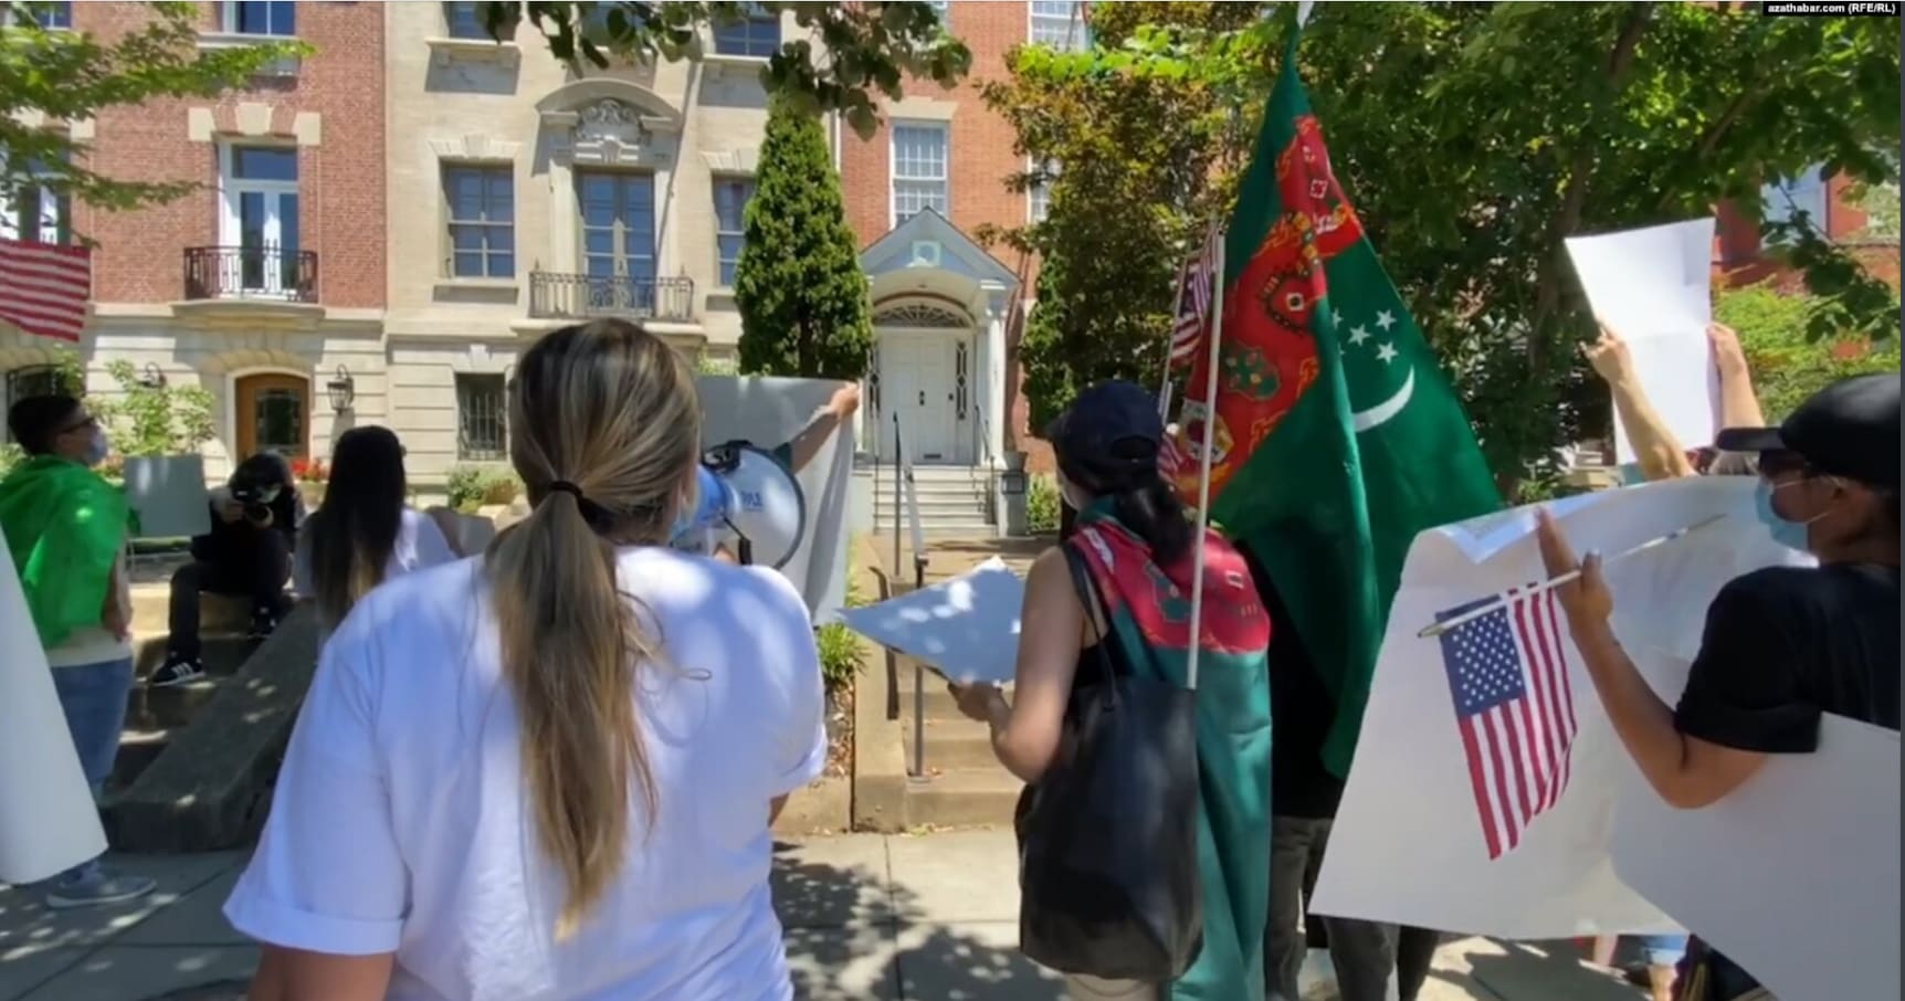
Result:
{"label": "tall white-framed window behind iron balcony on left brick building", "polygon": [[219,147],[219,289],[299,291],[297,147]]}

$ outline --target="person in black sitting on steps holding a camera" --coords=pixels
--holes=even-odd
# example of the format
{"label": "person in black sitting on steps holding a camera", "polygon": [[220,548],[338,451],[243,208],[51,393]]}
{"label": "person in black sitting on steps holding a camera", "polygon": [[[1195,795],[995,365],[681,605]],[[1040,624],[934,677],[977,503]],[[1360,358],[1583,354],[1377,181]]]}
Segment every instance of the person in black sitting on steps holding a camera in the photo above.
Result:
{"label": "person in black sitting on steps holding a camera", "polygon": [[198,639],[202,592],[251,599],[251,639],[278,628],[290,607],[297,525],[305,504],[291,481],[291,464],[276,453],[257,453],[238,464],[225,487],[211,491],[211,531],[192,539],[192,561],[171,575],[171,638],[152,687],[173,687],[206,676]]}

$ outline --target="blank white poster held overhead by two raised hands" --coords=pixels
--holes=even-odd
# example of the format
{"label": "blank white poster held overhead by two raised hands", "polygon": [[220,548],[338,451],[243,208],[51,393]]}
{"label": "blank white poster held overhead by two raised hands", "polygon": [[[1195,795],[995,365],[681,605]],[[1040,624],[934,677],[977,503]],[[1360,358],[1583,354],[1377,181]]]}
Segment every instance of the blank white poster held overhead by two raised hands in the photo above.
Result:
{"label": "blank white poster held overhead by two raised hands", "polygon": [[[1574,236],[1568,257],[1581,291],[1614,327],[1634,362],[1648,402],[1682,447],[1713,443],[1720,415],[1720,373],[1713,363],[1713,219]],[[1627,426],[1615,415],[1614,451],[1633,462]]]}

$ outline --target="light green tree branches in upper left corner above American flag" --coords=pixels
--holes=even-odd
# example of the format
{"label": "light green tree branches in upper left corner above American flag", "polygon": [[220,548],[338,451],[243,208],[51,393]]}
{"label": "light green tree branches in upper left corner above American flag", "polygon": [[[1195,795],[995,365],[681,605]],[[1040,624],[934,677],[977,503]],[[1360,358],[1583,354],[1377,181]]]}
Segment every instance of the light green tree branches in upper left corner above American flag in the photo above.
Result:
{"label": "light green tree branches in upper left corner above American flag", "polygon": [[190,181],[120,181],[91,169],[88,143],[48,128],[156,97],[215,97],[271,63],[307,51],[295,42],[198,48],[196,4],[145,4],[150,17],[101,38],[50,27],[51,4],[0,2],[0,202],[23,188],[67,194],[105,209],[170,202]]}

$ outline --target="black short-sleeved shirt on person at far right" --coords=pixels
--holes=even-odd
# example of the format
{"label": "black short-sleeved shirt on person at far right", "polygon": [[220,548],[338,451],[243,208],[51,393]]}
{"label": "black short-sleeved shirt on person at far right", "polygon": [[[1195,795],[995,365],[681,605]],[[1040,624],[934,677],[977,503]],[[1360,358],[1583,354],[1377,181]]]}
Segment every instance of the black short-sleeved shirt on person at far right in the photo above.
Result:
{"label": "black short-sleeved shirt on person at far right", "polygon": [[1674,727],[1726,748],[1808,754],[1819,714],[1899,729],[1899,569],[1768,567],[1707,607]]}

